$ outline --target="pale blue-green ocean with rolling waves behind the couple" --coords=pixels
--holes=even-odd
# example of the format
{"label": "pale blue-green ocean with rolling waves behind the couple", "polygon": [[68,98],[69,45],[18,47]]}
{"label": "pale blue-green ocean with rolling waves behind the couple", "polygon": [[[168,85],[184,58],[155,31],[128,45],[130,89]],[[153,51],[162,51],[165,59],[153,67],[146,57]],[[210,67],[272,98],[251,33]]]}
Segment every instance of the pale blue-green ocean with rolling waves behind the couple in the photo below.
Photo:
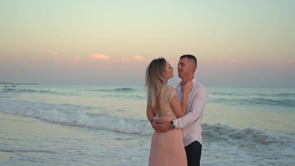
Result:
{"label": "pale blue-green ocean with rolling waves behind the couple", "polygon": [[[295,165],[294,88],[206,88],[201,165]],[[1,84],[0,165],[147,165],[145,110],[143,86]]]}

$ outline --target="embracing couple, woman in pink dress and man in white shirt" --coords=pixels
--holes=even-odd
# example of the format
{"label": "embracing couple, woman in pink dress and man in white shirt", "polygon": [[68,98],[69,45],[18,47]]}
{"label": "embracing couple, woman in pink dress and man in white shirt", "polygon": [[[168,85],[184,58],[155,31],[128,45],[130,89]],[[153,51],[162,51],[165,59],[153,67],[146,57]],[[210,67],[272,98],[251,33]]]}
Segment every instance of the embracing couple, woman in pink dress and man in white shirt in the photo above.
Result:
{"label": "embracing couple, woman in pink dress and man in white shirt", "polygon": [[208,95],[194,79],[196,66],[193,55],[180,57],[181,82],[175,88],[167,85],[173,67],[164,58],[153,59],[146,68],[146,115],[154,128],[148,165],[199,165],[202,112]]}

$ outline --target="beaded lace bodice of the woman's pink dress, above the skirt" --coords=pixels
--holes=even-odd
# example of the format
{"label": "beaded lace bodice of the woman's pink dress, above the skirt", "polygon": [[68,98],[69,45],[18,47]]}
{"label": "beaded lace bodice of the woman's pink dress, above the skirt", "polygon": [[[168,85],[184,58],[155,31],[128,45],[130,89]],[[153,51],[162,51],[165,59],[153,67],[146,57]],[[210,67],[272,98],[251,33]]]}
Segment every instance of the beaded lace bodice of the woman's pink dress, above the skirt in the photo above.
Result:
{"label": "beaded lace bodice of the woman's pink dress, above the skirt", "polygon": [[170,101],[173,95],[176,95],[176,92],[172,86],[164,85],[161,88],[160,94],[160,110],[155,111],[156,115],[161,117],[171,117],[176,118],[175,113],[173,112]]}

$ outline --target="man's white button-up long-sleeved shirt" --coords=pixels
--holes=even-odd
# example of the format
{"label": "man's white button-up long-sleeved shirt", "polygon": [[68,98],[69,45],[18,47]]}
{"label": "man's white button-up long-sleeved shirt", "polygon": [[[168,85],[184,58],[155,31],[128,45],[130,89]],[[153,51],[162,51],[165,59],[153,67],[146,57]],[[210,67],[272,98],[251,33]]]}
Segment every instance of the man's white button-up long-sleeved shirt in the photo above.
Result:
{"label": "man's white button-up long-sleeved shirt", "polygon": [[[176,128],[182,129],[183,143],[187,146],[191,142],[197,140],[202,144],[202,126],[201,121],[203,111],[208,99],[206,88],[192,79],[193,87],[188,93],[186,114],[180,118],[173,120]],[[181,101],[182,91],[181,82],[175,87],[177,98]]]}

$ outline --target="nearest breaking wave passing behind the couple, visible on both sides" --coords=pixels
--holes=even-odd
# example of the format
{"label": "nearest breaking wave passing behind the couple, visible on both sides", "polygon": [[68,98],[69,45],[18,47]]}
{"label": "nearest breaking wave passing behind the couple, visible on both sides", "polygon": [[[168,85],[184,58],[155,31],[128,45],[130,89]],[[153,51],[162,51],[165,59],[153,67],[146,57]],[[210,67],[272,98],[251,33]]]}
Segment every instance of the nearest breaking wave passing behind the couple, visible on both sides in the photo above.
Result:
{"label": "nearest breaking wave passing behind the couple, visible on both sides", "polygon": [[[151,135],[153,133],[150,122],[145,119],[121,117],[107,113],[90,113],[90,111],[72,111],[73,109],[91,109],[91,107],[9,99],[0,100],[0,111],[3,113],[35,117],[62,125],[76,125],[141,135]],[[203,139],[208,142],[227,142],[237,146],[246,146],[247,144],[254,143],[263,146],[287,147],[295,144],[294,139],[287,136],[268,133],[254,128],[235,128],[222,124],[202,124],[202,127]]]}

